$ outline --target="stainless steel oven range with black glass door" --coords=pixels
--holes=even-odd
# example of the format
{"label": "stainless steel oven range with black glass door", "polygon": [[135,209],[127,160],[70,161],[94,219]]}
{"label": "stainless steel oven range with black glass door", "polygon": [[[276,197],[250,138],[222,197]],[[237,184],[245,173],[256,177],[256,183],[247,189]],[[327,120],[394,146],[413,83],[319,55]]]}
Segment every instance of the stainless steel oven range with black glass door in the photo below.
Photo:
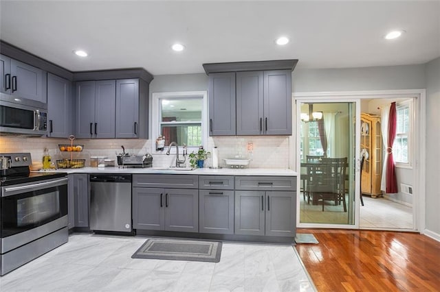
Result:
{"label": "stainless steel oven range with black glass door", "polygon": [[30,153],[0,154],[0,275],[67,243],[67,173],[33,173]]}

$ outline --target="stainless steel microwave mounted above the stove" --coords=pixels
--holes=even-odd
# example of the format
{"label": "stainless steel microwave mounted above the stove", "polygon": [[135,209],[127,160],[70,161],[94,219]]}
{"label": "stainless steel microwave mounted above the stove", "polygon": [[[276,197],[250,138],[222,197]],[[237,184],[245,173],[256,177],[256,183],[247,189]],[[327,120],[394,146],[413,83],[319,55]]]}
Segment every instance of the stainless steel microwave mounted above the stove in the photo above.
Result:
{"label": "stainless steel microwave mounted above the stove", "polygon": [[47,134],[47,104],[0,93],[0,135]]}

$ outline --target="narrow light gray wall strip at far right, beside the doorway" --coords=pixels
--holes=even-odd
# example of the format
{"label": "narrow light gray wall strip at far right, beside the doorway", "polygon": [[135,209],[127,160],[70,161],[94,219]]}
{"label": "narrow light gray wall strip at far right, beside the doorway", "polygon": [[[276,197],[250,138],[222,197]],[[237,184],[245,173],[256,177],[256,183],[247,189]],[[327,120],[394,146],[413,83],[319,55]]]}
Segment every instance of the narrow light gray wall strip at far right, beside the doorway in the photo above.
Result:
{"label": "narrow light gray wall strip at far right, beside the doorway", "polygon": [[440,58],[426,64],[426,230],[440,240]]}

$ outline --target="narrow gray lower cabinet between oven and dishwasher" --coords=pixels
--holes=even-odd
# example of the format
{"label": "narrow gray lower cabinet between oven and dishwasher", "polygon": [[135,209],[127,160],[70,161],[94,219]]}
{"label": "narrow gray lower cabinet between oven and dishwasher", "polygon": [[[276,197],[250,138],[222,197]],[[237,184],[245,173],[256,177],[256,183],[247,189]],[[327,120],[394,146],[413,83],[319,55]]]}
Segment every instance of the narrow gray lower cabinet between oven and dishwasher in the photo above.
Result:
{"label": "narrow gray lower cabinet between oven and dishwasher", "polygon": [[89,227],[89,178],[86,173],[68,175],[69,190],[67,195],[69,229]]}

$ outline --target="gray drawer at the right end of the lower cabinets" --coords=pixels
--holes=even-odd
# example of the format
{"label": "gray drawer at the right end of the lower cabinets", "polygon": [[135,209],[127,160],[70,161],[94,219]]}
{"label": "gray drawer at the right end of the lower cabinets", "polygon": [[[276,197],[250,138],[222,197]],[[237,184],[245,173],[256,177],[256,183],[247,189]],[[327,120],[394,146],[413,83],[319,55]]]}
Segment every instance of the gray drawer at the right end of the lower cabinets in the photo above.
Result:
{"label": "gray drawer at the right end of the lower cabinets", "polygon": [[247,191],[296,191],[296,177],[236,176],[235,189]]}

